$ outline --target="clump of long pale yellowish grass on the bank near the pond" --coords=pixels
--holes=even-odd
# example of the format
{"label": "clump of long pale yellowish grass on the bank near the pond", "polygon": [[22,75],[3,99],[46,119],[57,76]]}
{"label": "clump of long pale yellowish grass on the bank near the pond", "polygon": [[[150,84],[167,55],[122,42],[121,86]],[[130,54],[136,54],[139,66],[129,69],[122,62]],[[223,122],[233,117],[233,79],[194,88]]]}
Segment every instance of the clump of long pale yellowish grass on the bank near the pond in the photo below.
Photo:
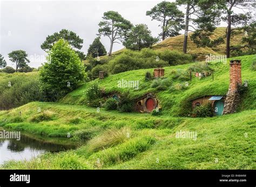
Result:
{"label": "clump of long pale yellowish grass on the bank near the pond", "polygon": [[123,127],[120,130],[116,128],[108,130],[88,143],[89,150],[91,152],[97,152],[100,149],[113,147],[123,143],[131,138],[130,132],[130,128],[127,127]]}

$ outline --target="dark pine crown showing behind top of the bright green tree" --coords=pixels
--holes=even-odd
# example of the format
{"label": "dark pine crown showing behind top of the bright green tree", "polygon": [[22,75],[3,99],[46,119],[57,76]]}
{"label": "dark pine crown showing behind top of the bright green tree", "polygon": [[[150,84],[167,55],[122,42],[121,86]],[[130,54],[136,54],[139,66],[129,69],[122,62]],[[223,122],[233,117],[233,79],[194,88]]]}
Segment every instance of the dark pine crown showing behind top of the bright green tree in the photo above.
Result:
{"label": "dark pine crown showing behind top of the bright green tree", "polygon": [[[55,32],[52,35],[48,35],[48,37],[46,37],[46,40],[41,45],[41,48],[45,52],[47,52],[59,39],[64,39],[68,41],[69,44],[75,49],[82,49],[83,47],[84,40],[81,39],[75,32],[62,29],[61,31]],[[78,50],[76,50],[75,52],[78,54],[81,60],[86,59],[86,55],[83,52]]]}

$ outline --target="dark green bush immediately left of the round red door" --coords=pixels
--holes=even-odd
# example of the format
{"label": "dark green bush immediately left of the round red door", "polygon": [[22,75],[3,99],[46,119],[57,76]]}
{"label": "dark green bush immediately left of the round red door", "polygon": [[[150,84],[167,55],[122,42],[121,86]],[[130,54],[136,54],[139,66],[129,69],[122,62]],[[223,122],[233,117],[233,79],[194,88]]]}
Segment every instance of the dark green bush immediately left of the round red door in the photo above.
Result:
{"label": "dark green bush immediately left of the round red door", "polygon": [[120,96],[119,102],[117,104],[117,109],[120,112],[132,112],[134,110],[133,100],[130,98],[130,93],[125,92]]}

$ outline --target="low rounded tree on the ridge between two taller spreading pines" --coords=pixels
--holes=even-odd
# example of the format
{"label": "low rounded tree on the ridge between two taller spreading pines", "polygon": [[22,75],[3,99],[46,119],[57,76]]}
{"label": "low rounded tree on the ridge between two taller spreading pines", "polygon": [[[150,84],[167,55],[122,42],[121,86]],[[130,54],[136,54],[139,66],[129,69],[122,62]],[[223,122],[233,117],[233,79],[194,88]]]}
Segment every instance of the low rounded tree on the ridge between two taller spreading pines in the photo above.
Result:
{"label": "low rounded tree on the ridge between two taller spreading pines", "polygon": [[158,41],[151,35],[151,31],[145,24],[138,24],[132,27],[127,39],[123,42],[124,46],[132,50],[140,50],[145,47],[151,47]]}

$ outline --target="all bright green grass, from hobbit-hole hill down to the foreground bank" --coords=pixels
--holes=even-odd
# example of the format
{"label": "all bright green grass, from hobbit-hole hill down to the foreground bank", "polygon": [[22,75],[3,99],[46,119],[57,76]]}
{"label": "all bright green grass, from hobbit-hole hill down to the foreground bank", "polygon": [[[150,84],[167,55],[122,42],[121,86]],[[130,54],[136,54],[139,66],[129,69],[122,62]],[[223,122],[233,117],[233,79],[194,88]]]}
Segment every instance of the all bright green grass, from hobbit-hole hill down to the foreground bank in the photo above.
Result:
{"label": "all bright green grass, from hobbit-hole hill down to the foreground bank", "polygon": [[[154,93],[163,107],[163,116],[148,113],[100,112],[88,107],[84,91],[88,84],[69,93],[58,103],[32,102],[9,111],[0,111],[0,127],[48,137],[66,138],[80,147],[48,153],[40,160],[10,161],[4,169],[256,169],[256,72],[253,55],[241,59],[242,80],[248,90],[239,112],[212,118],[179,117],[191,110],[190,99],[204,95],[225,95],[229,84],[229,64],[211,62],[212,77],[196,77],[184,90],[158,90],[145,81],[140,69],[111,75],[99,81],[106,92],[124,92],[119,80],[139,80],[139,90],[131,97]],[[228,59],[230,60],[230,59]],[[165,68],[165,77],[186,71],[193,64]],[[179,79],[172,85],[183,84]],[[38,113],[38,107],[41,113]],[[22,111],[22,115],[19,115]],[[176,138],[177,132],[197,133],[196,139]]]}

